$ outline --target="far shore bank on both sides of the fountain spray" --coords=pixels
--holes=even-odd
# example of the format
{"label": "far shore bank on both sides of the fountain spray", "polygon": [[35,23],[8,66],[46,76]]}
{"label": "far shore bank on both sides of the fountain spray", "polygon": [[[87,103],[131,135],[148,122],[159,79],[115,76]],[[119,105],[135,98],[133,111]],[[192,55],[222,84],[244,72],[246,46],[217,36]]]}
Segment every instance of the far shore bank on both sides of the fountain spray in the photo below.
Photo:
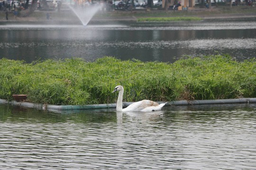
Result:
{"label": "far shore bank on both sides of the fountain spray", "polygon": [[[49,13],[51,18],[46,19],[46,13]],[[131,11],[99,11],[92,19],[91,22],[104,22],[104,21],[137,21],[140,17],[201,17],[202,19],[243,19],[243,18],[256,18],[256,7],[248,6],[219,6],[218,8],[190,8],[187,11],[174,11],[163,9],[147,9],[147,10],[133,10]],[[39,11],[36,10],[29,17],[15,17],[12,12],[9,12],[9,20],[5,18],[5,12],[0,11],[0,23],[11,22],[64,22],[72,21],[78,22],[79,19],[70,10],[57,11]]]}

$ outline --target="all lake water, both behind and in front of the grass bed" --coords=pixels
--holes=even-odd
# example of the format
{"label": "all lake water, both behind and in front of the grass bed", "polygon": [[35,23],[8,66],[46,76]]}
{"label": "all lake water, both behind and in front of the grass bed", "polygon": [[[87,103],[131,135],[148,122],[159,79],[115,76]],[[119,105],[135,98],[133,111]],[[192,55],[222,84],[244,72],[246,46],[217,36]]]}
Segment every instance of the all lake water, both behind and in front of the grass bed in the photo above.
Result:
{"label": "all lake water, both behind and in front of the grass bed", "polygon": [[[103,56],[174,62],[256,56],[256,20],[0,25],[0,58]],[[0,169],[253,170],[256,104],[166,106],[151,113],[48,112],[0,105]]]}

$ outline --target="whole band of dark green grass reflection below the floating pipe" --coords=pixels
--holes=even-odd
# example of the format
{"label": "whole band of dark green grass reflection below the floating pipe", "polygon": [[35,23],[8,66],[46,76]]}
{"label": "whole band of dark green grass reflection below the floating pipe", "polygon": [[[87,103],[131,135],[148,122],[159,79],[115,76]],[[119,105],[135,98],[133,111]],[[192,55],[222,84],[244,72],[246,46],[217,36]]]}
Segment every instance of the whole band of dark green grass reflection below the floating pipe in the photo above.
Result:
{"label": "whole band of dark green grass reflection below the floating pipe", "polygon": [[[161,127],[164,125],[169,125],[170,123],[195,122],[200,124],[209,124],[211,120],[227,119],[227,121],[230,121],[232,120],[230,118],[234,118],[236,116],[240,117],[241,119],[251,119],[252,117],[255,117],[255,106],[255,104],[225,104],[221,105],[221,107],[218,104],[175,106],[170,108],[166,107],[165,110],[161,111],[161,114],[158,112],[140,114],[124,113],[121,120],[124,122],[130,121],[130,118],[132,117],[133,119],[146,121],[147,123],[153,123],[155,125],[161,124]],[[243,111],[234,112],[234,110]],[[230,112],[232,112],[232,114],[230,114]],[[117,113],[115,111],[111,112],[111,110],[73,110],[54,113],[45,110],[36,110],[31,108],[0,104],[0,123],[100,123],[102,125],[102,123],[115,123],[117,121]],[[215,121],[212,123],[215,123]],[[65,124],[63,124],[63,126],[65,126]],[[177,126],[177,128],[179,128],[179,126]]]}

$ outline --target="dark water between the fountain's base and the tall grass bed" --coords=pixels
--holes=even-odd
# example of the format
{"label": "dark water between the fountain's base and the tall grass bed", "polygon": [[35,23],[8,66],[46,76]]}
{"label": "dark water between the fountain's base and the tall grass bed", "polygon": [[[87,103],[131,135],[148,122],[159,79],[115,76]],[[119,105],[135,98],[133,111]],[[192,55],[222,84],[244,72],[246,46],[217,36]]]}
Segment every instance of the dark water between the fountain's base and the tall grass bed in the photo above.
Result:
{"label": "dark water between the fountain's base and the tall grass bed", "polygon": [[103,56],[174,62],[183,55],[256,57],[256,19],[106,25],[0,25],[0,58]]}

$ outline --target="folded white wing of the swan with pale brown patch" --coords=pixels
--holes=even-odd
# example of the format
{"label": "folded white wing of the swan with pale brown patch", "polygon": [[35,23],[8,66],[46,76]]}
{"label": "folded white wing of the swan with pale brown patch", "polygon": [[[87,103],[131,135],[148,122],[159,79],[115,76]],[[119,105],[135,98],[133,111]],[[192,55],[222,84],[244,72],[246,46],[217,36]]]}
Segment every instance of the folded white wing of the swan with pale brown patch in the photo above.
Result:
{"label": "folded white wing of the swan with pale brown patch", "polygon": [[[143,100],[143,101],[134,102],[134,103],[130,104],[127,108],[123,109],[123,111],[142,111],[148,107],[155,108],[157,106],[159,106],[159,104],[157,102],[153,102],[150,100]],[[161,108],[160,108],[160,110],[161,110]],[[145,111],[149,111],[149,110],[145,110]],[[152,111],[152,110],[150,110],[150,111]]]}

